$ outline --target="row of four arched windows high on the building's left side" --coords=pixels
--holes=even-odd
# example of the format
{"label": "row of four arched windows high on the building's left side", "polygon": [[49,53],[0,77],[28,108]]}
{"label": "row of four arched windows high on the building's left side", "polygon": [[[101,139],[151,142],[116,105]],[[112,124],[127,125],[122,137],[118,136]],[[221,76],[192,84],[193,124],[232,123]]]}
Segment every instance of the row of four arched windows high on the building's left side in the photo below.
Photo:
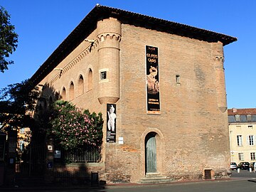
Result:
{"label": "row of four arched windows high on the building's left side", "polygon": [[[77,87],[75,87],[75,85],[77,85]],[[60,92],[60,98],[62,100],[74,100],[75,97],[82,95],[85,92],[85,90],[92,90],[92,69],[88,70],[86,85],[87,87],[85,87],[85,80],[83,76],[79,75],[77,84],[71,81],[67,88],[63,86]]]}

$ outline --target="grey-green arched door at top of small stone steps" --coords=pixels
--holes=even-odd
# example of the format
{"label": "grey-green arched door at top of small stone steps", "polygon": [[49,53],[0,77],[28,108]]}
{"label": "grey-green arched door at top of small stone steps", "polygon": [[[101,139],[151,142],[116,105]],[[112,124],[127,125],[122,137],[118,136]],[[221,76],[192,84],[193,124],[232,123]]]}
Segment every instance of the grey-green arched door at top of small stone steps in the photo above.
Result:
{"label": "grey-green arched door at top of small stone steps", "polygon": [[146,174],[156,173],[156,133],[150,132],[145,138]]}

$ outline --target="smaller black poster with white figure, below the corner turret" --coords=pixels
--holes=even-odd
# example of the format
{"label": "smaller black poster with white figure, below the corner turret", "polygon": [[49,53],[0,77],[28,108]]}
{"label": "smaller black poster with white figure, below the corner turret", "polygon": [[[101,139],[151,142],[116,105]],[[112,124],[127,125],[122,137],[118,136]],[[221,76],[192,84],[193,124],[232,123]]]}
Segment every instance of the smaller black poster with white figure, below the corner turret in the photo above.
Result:
{"label": "smaller black poster with white figure, below the corner turret", "polygon": [[116,142],[116,105],[107,103],[107,142]]}

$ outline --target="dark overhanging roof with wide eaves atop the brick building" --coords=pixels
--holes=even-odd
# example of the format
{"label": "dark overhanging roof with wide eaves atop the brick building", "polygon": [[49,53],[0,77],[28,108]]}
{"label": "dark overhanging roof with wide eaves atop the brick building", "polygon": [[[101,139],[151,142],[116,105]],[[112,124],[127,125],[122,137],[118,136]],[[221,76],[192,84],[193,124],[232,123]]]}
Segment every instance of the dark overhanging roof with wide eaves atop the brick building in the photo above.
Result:
{"label": "dark overhanging roof with wide eaves atop the brick building", "polygon": [[68,54],[70,54],[87,36],[97,27],[97,21],[104,18],[117,18],[122,23],[134,26],[150,28],[156,31],[176,34],[178,36],[186,36],[188,38],[196,38],[201,41],[222,42],[223,46],[228,45],[237,38],[226,36],[221,33],[215,33],[202,28],[187,26],[181,23],[166,21],[160,18],[136,14],[130,11],[114,9],[108,6],[100,6],[97,4],[92,11],[80,22],[80,24],[60,43],[49,58],[41,65],[36,73],[31,77],[33,85],[37,85],[43,80],[51,70],[55,68]]}

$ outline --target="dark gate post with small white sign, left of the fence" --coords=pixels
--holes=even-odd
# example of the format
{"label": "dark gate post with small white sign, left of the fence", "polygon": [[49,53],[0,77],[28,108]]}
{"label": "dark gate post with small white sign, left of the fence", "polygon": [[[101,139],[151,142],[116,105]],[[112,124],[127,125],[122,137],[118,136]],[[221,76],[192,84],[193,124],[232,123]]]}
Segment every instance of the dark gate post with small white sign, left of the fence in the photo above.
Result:
{"label": "dark gate post with small white sign, left of the fence", "polygon": [[54,169],[53,169],[53,138],[46,139],[46,184],[53,183],[54,180]]}

